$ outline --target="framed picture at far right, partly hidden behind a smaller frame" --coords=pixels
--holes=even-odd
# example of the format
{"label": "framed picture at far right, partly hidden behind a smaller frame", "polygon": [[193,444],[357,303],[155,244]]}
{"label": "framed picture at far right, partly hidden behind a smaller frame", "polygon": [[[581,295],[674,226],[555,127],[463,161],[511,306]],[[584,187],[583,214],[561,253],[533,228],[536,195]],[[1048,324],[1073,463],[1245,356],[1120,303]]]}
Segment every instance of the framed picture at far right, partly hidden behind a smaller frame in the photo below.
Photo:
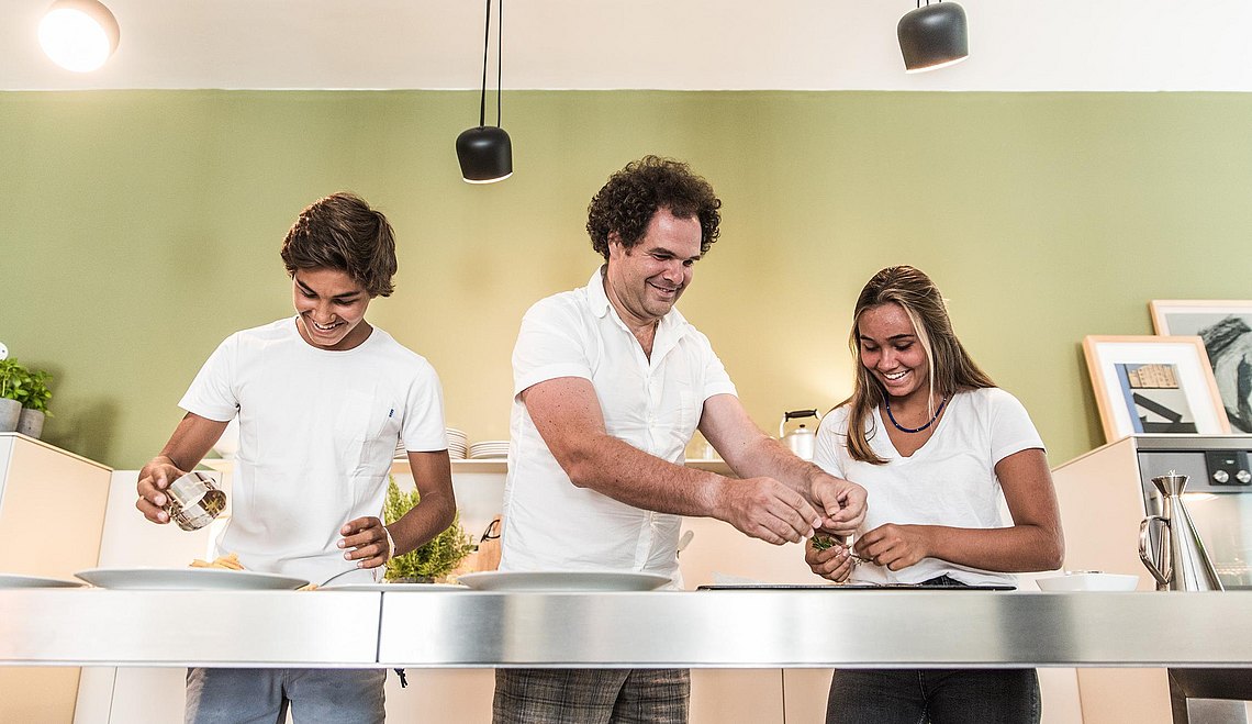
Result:
{"label": "framed picture at far right, partly hidden behind a smaller frame", "polygon": [[1252,432],[1252,301],[1153,299],[1157,334],[1197,334],[1234,432]]}

